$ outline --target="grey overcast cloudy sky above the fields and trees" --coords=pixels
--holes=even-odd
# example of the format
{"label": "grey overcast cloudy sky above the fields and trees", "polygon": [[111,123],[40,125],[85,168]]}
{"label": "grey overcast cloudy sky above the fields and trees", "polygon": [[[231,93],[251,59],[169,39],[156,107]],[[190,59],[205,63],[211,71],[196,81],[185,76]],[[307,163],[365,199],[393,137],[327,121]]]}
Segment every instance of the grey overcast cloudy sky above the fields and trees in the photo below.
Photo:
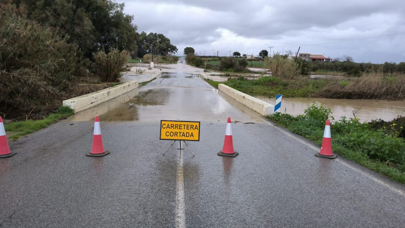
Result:
{"label": "grey overcast cloudy sky above the fields and trees", "polygon": [[[182,54],[220,56],[229,51],[271,52],[405,32],[405,0],[117,0],[134,15],[138,32],[162,33]],[[301,46],[300,52],[356,62],[405,62],[405,34],[335,44]]]}

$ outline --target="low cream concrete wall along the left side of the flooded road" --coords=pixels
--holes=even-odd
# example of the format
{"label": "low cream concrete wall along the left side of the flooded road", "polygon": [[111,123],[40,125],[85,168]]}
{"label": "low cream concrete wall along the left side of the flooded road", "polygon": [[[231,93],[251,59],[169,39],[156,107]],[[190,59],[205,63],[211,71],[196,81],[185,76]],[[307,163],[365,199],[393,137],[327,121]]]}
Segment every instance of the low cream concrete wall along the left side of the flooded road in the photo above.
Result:
{"label": "low cream concrete wall along the left side of the flooded road", "polygon": [[118,97],[119,95],[122,95],[135,88],[138,88],[138,81],[126,82],[111,88],[64,100],[63,105],[67,105],[70,108],[73,108],[75,112],[79,112],[81,110],[85,110],[86,108],[98,105],[104,101],[108,101],[114,97]]}

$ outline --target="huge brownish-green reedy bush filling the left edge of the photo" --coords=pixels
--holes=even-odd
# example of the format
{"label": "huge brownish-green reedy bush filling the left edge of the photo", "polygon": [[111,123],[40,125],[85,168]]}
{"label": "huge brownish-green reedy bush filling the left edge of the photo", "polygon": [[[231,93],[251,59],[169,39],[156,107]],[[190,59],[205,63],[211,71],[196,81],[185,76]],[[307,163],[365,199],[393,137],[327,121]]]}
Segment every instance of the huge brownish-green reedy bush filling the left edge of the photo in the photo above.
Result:
{"label": "huge brownish-green reedy bush filling the left edge of the photo", "polygon": [[[18,13],[0,10],[0,115],[36,116],[86,74],[77,45]],[[127,60],[127,59],[126,59]]]}

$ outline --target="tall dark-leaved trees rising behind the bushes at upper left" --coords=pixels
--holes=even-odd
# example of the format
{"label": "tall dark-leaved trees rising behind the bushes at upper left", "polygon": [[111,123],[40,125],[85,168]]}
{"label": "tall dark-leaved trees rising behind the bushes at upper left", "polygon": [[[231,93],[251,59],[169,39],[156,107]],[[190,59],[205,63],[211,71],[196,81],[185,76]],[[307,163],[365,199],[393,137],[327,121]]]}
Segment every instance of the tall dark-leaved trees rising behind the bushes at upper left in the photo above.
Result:
{"label": "tall dark-leaved trees rising behind the bushes at upper left", "polygon": [[125,14],[124,3],[112,0],[14,0],[33,20],[69,37],[91,57],[97,49],[136,49],[137,26]]}

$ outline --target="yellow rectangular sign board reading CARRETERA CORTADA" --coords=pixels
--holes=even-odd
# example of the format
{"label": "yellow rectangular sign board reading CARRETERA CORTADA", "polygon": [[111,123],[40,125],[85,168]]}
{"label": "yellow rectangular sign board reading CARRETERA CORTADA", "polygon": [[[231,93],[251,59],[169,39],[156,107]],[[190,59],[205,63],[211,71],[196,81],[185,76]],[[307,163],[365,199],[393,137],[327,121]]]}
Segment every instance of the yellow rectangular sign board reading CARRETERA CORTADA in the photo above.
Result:
{"label": "yellow rectangular sign board reading CARRETERA CORTADA", "polygon": [[160,140],[200,141],[200,122],[160,120]]}

